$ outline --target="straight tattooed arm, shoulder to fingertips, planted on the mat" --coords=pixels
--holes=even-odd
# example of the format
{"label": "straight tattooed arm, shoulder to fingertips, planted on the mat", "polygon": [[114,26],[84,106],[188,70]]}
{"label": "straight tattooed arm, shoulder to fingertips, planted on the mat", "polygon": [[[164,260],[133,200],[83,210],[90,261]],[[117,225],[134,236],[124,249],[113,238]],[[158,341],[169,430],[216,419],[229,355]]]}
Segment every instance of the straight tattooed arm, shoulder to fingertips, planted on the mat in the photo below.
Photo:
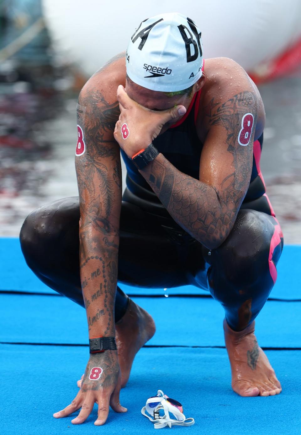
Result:
{"label": "straight tattooed arm, shoulder to fingertips, planted on the mat", "polygon": [[[76,175],[79,189],[80,277],[89,338],[114,337],[114,302],[118,270],[121,177],[119,147],[113,137],[119,108],[114,78],[125,77],[125,62],[115,58],[83,87],[77,105]],[[112,79],[112,72],[116,76]],[[81,408],[73,424],[85,422],[98,404],[95,425],[103,425],[109,406],[126,412],[119,402],[120,368],[116,350],[89,356],[80,390],[55,418]]]}

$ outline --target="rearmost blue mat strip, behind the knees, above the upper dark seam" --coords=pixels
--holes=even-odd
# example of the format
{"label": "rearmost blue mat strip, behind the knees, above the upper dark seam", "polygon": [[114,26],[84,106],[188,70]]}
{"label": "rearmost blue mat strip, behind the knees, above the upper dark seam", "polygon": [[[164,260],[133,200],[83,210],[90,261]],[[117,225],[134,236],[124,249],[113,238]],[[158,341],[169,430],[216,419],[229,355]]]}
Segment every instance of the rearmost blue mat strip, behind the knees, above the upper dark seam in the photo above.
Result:
{"label": "rearmost blue mat strip, behind the knees, above the upper dark seam", "polygon": [[[17,238],[0,238],[0,262],[5,274],[1,277],[0,291],[24,291],[46,294],[57,294],[43,284],[27,267]],[[278,279],[270,298],[284,300],[301,300],[299,269],[301,264],[301,246],[284,246],[278,263]],[[128,294],[164,294],[160,289],[129,287],[120,284]],[[206,294],[208,291],[191,285],[168,289],[169,294]]]}

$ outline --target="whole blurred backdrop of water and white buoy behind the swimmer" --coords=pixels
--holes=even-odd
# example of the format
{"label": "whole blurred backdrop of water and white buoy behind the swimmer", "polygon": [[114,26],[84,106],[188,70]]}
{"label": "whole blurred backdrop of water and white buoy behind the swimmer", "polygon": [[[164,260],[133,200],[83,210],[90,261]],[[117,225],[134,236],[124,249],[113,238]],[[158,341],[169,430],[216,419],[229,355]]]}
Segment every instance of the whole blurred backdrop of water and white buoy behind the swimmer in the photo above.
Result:
{"label": "whole blurred backdrop of water and white buoy behind the swimmer", "polygon": [[301,243],[301,2],[185,3],[0,0],[0,237],[17,237],[36,207],[77,196],[81,87],[142,20],[177,11],[202,29],[205,59],[231,57],[258,85],[261,171],[285,243]]}

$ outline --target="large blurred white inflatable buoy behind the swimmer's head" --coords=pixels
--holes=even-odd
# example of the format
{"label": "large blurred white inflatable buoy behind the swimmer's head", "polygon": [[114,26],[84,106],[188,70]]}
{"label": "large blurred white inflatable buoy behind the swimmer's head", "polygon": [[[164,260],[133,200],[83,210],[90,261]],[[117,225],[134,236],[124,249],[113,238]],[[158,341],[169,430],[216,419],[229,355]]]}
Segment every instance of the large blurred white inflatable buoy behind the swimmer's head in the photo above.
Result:
{"label": "large blurred white inflatable buoy behind the swimmer's head", "polygon": [[205,58],[230,57],[247,71],[275,59],[301,37],[300,0],[43,0],[53,47],[87,77],[126,50],[142,20],[166,12],[180,12],[198,24]]}

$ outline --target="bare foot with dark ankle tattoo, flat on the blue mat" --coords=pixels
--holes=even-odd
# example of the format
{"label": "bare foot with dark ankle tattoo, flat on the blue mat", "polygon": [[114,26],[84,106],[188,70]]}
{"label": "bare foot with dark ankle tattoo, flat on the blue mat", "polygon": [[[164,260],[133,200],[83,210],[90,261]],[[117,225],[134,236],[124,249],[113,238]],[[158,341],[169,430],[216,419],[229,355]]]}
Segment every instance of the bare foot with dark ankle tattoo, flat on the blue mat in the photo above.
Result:
{"label": "bare foot with dark ankle tattoo, flat on the blue mat", "polygon": [[255,321],[233,331],[224,319],[225,344],[232,372],[232,388],[244,396],[275,396],[282,390],[264,351],[254,335]]}

